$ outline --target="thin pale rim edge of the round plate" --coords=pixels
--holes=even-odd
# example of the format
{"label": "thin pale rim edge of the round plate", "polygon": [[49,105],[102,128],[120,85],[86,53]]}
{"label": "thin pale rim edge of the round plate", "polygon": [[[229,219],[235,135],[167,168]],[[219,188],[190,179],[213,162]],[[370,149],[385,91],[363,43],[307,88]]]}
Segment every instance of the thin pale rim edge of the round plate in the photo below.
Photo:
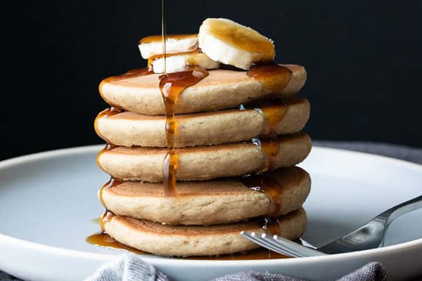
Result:
{"label": "thin pale rim edge of the round plate", "polygon": [[[49,159],[58,156],[66,156],[66,155],[79,155],[79,154],[86,154],[92,152],[99,152],[104,147],[103,144],[97,145],[82,145],[82,146],[75,146],[72,148],[58,148],[55,150],[46,150],[41,152],[34,152],[27,155],[21,155],[18,157],[12,157],[9,159],[4,159],[0,161],[0,169],[6,169],[11,166],[15,166],[18,164],[24,164],[28,162],[34,162],[40,159]],[[344,153],[347,155],[356,155],[361,157],[372,157],[373,159],[379,159],[381,161],[392,162],[392,164],[399,164],[401,166],[407,166],[411,169],[416,169],[418,171],[422,171],[422,164],[417,164],[414,162],[409,162],[403,159],[397,159],[393,157],[388,157],[384,155],[376,155],[369,152],[360,152],[354,150],[345,150],[343,148],[326,148],[320,147],[318,145],[313,145],[312,150],[321,150],[321,151],[328,151],[332,153]],[[306,160],[305,160],[306,161]],[[11,243],[15,244],[18,247],[25,248],[25,249],[34,249],[36,251],[48,251],[50,254],[60,254],[61,256],[72,256],[76,258],[83,258],[83,259],[95,259],[97,261],[108,261],[111,259],[117,259],[120,254],[105,254],[105,253],[92,253],[89,251],[79,251],[75,249],[67,249],[62,247],[50,246],[46,244],[40,244],[37,242],[31,242],[28,240],[20,239],[17,237],[12,237],[10,235],[5,235],[0,233],[0,244],[1,243]],[[329,261],[331,259],[339,260],[339,259],[348,259],[351,257],[359,258],[364,256],[369,256],[372,254],[388,254],[393,251],[399,251],[402,249],[414,249],[414,247],[421,247],[422,249],[422,237],[416,240],[411,240],[407,242],[402,242],[399,244],[393,244],[386,247],[376,248],[376,249],[367,249],[363,251],[355,251],[349,253],[342,253],[342,254],[331,254],[327,256],[310,256],[310,257],[302,257],[302,258],[294,258],[294,259],[250,259],[250,260],[206,260],[206,259],[178,259],[172,257],[165,257],[165,256],[154,256],[150,254],[146,255],[139,255],[141,259],[148,263],[153,263],[155,265],[174,265],[174,266],[186,266],[189,265],[200,265],[200,266],[242,266],[250,264],[250,261],[254,262],[256,266],[271,266],[275,264],[296,264],[296,263],[313,263],[317,261]],[[127,254],[131,252],[122,251],[123,254]],[[188,261],[188,263],[186,263]]]}

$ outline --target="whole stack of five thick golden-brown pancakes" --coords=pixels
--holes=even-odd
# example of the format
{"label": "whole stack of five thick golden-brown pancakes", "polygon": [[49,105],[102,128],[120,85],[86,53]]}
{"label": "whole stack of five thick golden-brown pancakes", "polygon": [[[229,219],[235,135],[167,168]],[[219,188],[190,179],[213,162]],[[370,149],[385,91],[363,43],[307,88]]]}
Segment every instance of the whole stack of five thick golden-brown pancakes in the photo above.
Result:
{"label": "whole stack of five thick golden-brown pancakes", "polygon": [[277,93],[239,69],[208,70],[181,92],[174,107],[177,186],[163,188],[167,154],[160,74],[131,70],[104,79],[100,93],[112,107],[95,121],[107,145],[97,157],[110,181],[100,190],[103,230],[118,242],[165,256],[230,254],[259,246],[239,233],[302,235],[309,174],[296,164],[312,148],[302,131],[309,103],[295,94],[305,68],[288,73]]}

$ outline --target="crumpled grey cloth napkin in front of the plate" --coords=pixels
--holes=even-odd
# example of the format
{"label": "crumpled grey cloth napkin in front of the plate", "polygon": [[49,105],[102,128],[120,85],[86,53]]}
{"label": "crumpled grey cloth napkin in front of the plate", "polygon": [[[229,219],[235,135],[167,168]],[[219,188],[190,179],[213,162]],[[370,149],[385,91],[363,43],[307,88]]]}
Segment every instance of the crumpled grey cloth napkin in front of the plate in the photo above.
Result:
{"label": "crumpled grey cloth napkin in front of the plate", "polygon": [[[337,281],[389,281],[381,263],[368,263]],[[124,254],[120,259],[106,263],[84,281],[172,281],[135,254]],[[241,271],[210,281],[312,281],[290,275],[260,271]]]}

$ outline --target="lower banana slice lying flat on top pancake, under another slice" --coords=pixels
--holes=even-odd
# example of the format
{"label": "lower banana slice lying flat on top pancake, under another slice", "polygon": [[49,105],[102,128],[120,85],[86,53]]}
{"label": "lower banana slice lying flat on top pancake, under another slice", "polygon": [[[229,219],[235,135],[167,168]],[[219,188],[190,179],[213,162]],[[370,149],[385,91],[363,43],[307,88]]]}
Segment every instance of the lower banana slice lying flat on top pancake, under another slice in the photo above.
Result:
{"label": "lower banana slice lying flat on top pancake, under another slice", "polygon": [[[164,58],[156,58],[152,62],[154,73],[164,72]],[[219,68],[219,63],[208,58],[205,53],[191,52],[181,53],[180,55],[170,55],[165,58],[165,71],[167,73],[186,70],[186,67],[198,66],[205,70],[214,70]]]}

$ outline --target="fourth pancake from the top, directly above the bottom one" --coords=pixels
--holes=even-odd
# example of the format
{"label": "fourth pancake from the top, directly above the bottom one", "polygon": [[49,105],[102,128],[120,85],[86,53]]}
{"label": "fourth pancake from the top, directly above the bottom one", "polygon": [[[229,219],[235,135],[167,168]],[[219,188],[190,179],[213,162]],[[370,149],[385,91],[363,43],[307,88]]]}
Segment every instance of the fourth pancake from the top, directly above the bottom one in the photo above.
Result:
{"label": "fourth pancake from the top, directly above the bottom one", "polygon": [[309,195],[311,179],[299,167],[278,169],[266,177],[269,183],[262,189],[267,192],[248,188],[241,178],[227,178],[179,182],[177,195],[166,197],[162,183],[123,181],[105,185],[100,197],[114,214],[172,225],[212,225],[288,214]]}

